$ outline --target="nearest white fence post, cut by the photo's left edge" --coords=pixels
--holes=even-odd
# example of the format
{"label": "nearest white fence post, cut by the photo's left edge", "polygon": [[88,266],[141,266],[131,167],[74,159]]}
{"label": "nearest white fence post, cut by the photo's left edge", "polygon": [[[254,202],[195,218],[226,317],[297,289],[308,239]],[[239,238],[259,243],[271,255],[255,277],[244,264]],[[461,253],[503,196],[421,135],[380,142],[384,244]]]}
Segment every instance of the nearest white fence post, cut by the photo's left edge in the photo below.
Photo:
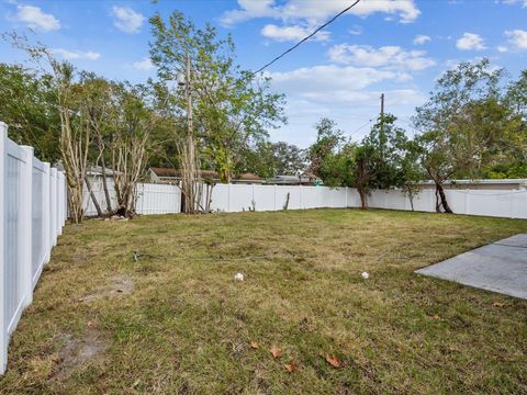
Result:
{"label": "nearest white fence post, cut by the photo's left edge", "polygon": [[8,137],[8,125],[0,122],[0,374],[5,372],[8,366],[8,323],[5,321],[5,255],[3,242],[4,217],[4,191],[5,191],[5,138]]}

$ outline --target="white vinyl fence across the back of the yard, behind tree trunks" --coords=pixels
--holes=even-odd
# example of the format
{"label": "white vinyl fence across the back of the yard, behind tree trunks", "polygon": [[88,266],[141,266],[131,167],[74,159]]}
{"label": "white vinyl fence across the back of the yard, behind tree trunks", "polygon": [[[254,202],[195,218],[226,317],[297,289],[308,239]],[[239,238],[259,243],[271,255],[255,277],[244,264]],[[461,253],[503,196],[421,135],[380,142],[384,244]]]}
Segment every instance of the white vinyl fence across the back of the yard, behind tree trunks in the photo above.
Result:
{"label": "white vinyl fence across the back of the yard, behind tree trunks", "polygon": [[[94,182],[97,199],[104,207],[102,185]],[[109,179],[110,193],[113,184]],[[527,219],[526,190],[445,190],[448,203],[456,214],[486,215]],[[288,210],[360,207],[360,196],[352,188],[259,185],[259,184],[216,184],[212,191],[211,210],[220,212],[279,211],[285,202]],[[113,199],[113,198],[112,198]],[[138,184],[137,212],[139,214],[179,213],[181,191],[176,185]],[[85,206],[89,215],[96,210],[88,193]],[[408,196],[400,190],[372,191],[369,206],[386,210],[412,210]],[[435,190],[423,190],[414,196],[414,210],[436,211]]]}

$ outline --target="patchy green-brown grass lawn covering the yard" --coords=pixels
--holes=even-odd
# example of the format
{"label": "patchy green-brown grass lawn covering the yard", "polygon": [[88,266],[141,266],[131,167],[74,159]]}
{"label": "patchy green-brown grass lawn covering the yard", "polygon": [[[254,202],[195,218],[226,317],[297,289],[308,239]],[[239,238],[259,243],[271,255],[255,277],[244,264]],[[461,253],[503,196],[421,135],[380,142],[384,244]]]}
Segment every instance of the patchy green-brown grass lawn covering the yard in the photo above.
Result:
{"label": "patchy green-brown grass lawn covering the yard", "polygon": [[413,273],[523,232],[358,210],[70,225],[0,392],[527,393],[527,301]]}

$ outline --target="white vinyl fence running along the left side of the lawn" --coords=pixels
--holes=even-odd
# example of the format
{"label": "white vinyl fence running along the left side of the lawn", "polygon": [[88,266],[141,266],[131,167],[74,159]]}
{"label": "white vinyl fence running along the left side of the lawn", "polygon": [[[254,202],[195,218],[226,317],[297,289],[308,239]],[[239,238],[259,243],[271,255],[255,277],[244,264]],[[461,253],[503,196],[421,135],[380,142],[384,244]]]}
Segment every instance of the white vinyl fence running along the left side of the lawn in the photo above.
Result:
{"label": "white vinyl fence running along the left side of the lawn", "polygon": [[9,337],[67,216],[61,172],[33,156],[33,148],[8,138],[0,122],[0,374],[5,371]]}

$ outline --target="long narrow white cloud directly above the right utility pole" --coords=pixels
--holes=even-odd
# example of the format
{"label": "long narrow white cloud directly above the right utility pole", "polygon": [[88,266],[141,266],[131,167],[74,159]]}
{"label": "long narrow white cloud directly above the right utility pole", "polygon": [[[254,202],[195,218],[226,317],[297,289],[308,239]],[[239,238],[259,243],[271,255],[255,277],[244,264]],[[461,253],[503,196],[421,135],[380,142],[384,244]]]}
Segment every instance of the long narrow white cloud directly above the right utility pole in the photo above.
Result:
{"label": "long narrow white cloud directly above the right utility pole", "polygon": [[339,44],[328,52],[329,59],[347,65],[423,70],[435,66],[434,59],[424,50],[403,50],[399,46],[383,46],[378,49],[369,45]]}

